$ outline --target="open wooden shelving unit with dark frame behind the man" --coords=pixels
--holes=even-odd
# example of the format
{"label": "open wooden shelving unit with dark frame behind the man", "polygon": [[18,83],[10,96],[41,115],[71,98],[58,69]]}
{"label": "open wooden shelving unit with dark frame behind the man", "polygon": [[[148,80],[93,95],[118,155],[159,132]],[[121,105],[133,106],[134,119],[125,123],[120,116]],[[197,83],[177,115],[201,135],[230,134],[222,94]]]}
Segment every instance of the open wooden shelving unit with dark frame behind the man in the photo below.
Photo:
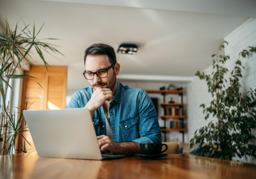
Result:
{"label": "open wooden shelving unit with dark frame behind the man", "polygon": [[[164,142],[166,142],[166,133],[172,132],[172,131],[179,131],[182,134],[182,141],[184,142],[184,103],[183,103],[183,93],[184,91],[176,91],[176,90],[152,90],[152,89],[145,89],[147,93],[160,93],[163,95],[163,104],[161,104],[162,109],[164,110],[164,116],[161,116],[161,118],[164,120],[164,127],[161,127],[161,132],[164,134]],[[173,94],[173,95],[179,95],[181,98],[181,103],[166,103],[166,94]],[[166,111],[166,107],[179,107],[181,109],[181,115],[168,115],[168,111]],[[172,119],[178,119],[183,123],[183,128],[166,128],[166,120],[172,118]]]}

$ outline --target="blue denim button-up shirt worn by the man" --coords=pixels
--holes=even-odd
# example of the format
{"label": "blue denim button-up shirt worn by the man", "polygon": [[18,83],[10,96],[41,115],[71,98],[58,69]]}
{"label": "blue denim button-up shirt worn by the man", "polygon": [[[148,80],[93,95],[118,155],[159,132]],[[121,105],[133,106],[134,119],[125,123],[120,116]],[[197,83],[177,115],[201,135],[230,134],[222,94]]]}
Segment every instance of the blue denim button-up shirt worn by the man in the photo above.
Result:
{"label": "blue denim button-up shirt worn by the man", "polygon": [[[92,97],[92,87],[79,89],[70,99],[68,108],[84,107]],[[143,89],[123,86],[118,82],[109,104],[113,141],[116,143],[161,143],[161,130],[156,109]],[[106,135],[103,107],[93,113],[92,122],[97,136]]]}

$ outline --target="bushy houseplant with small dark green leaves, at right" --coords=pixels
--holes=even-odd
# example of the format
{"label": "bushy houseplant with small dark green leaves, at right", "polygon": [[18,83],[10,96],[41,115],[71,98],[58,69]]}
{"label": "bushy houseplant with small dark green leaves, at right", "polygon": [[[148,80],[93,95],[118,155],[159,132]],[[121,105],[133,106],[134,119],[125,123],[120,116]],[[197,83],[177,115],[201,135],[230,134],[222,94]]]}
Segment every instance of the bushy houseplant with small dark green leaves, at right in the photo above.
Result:
{"label": "bushy houseplant with small dark green leaves, at right", "polygon": [[230,57],[219,54],[219,51],[225,48],[225,43],[228,45],[227,42],[221,43],[218,51],[212,54],[214,72],[210,75],[196,72],[200,79],[207,82],[208,91],[213,98],[209,107],[200,105],[206,113],[205,120],[212,114],[216,121],[196,130],[190,146],[195,143],[203,146],[197,153],[200,156],[224,160],[244,157],[247,160],[247,157],[256,157],[256,146],[250,144],[250,140],[255,139],[252,129],[256,128],[256,89],[241,94],[239,79],[243,77],[241,67],[244,66],[239,58],[246,58],[255,53],[256,47],[248,47],[239,53],[228,82],[224,78],[224,75],[228,74],[224,64]]}

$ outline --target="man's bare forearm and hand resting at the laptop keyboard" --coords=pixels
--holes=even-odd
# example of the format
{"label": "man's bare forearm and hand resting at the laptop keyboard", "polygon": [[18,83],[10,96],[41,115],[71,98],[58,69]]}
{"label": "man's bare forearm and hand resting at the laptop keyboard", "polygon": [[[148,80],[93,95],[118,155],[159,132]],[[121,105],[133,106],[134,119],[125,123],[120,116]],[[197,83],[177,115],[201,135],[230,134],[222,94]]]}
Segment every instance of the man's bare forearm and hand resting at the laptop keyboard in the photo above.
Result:
{"label": "man's bare forearm and hand resting at the laptop keyboard", "polygon": [[100,151],[113,154],[133,155],[140,153],[140,144],[134,142],[116,143],[108,136],[97,136]]}

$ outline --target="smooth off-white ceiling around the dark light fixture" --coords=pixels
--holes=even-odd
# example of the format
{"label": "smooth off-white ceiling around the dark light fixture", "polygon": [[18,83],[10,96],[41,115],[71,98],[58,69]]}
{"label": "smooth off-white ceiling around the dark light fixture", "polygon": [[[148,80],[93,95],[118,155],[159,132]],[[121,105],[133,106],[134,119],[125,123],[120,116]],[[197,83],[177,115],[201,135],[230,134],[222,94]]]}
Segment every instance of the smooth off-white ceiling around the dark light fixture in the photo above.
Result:
{"label": "smooth off-white ceiling around the dark light fixture", "polygon": [[55,1],[0,0],[0,15],[12,27],[20,18],[31,28],[33,22],[36,29],[45,23],[38,38],[60,38],[51,43],[65,55],[45,58],[49,65],[72,68],[69,81],[83,72],[84,50],[93,43],[107,43],[115,50],[124,42],[138,45],[135,55],[116,54],[120,76],[126,79],[191,77],[211,65],[211,54],[225,36],[256,17],[256,1]]}

